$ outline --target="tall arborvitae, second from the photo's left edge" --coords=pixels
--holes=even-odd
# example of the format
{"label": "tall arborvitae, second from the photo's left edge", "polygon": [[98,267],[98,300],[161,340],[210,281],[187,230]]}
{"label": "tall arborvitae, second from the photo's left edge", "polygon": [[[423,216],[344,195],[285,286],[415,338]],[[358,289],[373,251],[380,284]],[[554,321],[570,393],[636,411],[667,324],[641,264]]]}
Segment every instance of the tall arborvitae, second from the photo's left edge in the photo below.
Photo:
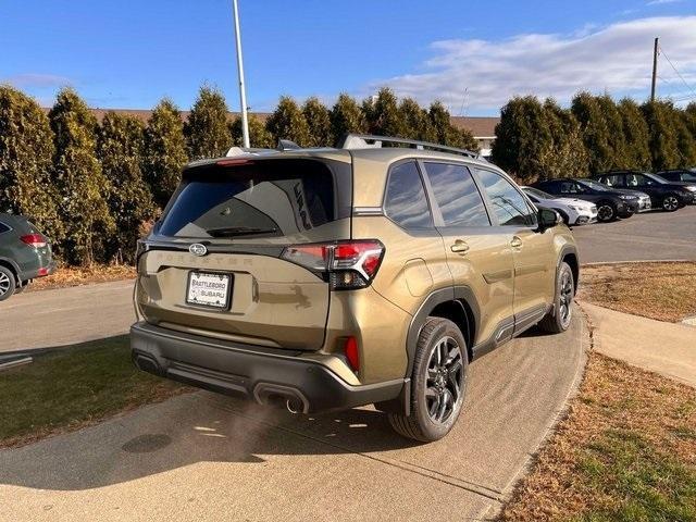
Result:
{"label": "tall arborvitae, second from the photo's left edge", "polygon": [[55,145],[54,186],[66,233],[61,253],[71,263],[88,265],[114,229],[107,204],[109,181],[96,157],[97,121],[72,89],[59,92],[49,120]]}

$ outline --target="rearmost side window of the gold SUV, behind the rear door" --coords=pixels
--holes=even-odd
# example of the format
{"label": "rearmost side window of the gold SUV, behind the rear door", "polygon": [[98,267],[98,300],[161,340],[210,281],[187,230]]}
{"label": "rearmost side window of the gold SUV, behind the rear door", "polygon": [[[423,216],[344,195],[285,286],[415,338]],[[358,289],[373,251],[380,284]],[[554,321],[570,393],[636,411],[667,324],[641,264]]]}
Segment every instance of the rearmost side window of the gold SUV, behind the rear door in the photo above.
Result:
{"label": "rearmost side window of the gold SUV, behind the rear door", "polygon": [[401,163],[389,173],[384,211],[403,228],[432,228],[423,181],[414,162]]}

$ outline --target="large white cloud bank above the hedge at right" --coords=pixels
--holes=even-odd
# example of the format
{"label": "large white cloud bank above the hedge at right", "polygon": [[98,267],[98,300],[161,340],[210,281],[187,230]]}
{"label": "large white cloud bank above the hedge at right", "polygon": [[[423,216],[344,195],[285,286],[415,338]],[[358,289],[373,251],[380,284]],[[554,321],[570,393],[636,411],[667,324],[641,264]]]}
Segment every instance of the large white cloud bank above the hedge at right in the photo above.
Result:
{"label": "large white cloud bank above the hedge at right", "polygon": [[[514,95],[552,96],[562,103],[579,90],[643,98],[649,90],[656,36],[686,82],[696,84],[696,16],[673,16],[585,26],[569,35],[436,41],[423,72],[370,88],[388,85],[399,96],[422,103],[439,99],[456,111],[468,89],[468,112],[495,111]],[[666,61],[659,67],[666,77],[675,77]]]}

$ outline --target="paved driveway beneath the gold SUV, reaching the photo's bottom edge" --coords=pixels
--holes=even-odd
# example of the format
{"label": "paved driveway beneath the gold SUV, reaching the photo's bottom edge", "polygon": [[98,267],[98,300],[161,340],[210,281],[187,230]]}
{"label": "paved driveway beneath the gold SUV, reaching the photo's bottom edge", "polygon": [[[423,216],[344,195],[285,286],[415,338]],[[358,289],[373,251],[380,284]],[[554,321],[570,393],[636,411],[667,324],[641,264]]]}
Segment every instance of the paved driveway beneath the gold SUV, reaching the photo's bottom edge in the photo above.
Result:
{"label": "paved driveway beneath the gold SUV, reaching the photo's bottom edge", "polygon": [[587,332],[530,333],[471,365],[443,440],[398,437],[372,409],[304,418],[178,397],[0,451],[0,520],[480,520],[575,389]]}

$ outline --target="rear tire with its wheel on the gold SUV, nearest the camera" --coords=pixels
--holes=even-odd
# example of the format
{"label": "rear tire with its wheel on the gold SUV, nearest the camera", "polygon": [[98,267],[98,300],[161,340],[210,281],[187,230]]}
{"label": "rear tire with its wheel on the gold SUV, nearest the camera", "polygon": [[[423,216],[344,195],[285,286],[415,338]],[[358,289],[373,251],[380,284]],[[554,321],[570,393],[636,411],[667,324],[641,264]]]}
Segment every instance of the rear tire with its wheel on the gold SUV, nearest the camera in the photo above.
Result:
{"label": "rear tire with its wheel on the gold SUV, nearest the camera", "polygon": [[389,413],[389,424],[423,443],[447,435],[461,412],[469,358],[461,331],[447,319],[428,318],[415,347],[411,414]]}

